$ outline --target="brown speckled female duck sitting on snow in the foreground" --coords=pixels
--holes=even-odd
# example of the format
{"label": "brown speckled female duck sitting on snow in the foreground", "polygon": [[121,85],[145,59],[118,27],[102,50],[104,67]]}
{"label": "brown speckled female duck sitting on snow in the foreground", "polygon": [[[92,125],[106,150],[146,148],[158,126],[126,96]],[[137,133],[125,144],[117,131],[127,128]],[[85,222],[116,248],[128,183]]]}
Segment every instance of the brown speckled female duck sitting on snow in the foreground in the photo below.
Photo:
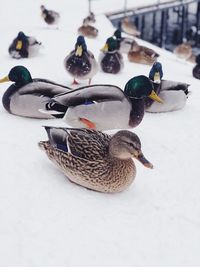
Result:
{"label": "brown speckled female duck sitting on snow in the foreground", "polygon": [[139,137],[130,131],[110,136],[89,129],[45,129],[48,141],[40,141],[39,147],[70,181],[83,187],[107,193],[125,190],[136,176],[132,158],[153,168]]}

